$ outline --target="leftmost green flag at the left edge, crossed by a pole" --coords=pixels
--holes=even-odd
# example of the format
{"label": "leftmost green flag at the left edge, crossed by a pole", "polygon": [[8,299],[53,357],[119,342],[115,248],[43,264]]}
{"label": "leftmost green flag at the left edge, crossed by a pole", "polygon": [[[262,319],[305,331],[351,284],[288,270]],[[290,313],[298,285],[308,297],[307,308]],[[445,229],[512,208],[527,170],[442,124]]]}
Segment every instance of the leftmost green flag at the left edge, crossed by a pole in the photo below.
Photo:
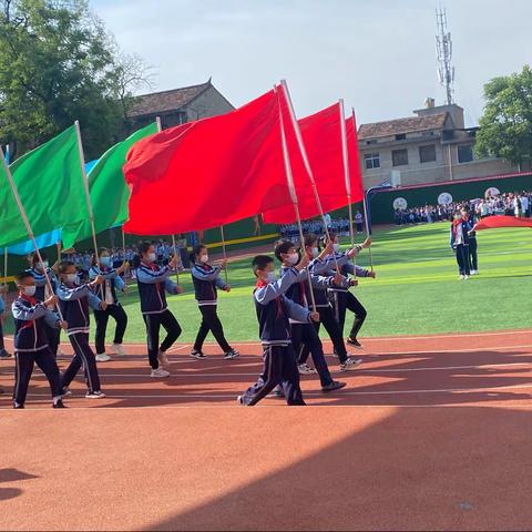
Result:
{"label": "leftmost green flag at the left edge, crossed by a pole", "polygon": [[[86,215],[75,126],[10,165],[22,205],[35,235],[76,224]],[[11,188],[0,171],[0,247],[28,239]]]}

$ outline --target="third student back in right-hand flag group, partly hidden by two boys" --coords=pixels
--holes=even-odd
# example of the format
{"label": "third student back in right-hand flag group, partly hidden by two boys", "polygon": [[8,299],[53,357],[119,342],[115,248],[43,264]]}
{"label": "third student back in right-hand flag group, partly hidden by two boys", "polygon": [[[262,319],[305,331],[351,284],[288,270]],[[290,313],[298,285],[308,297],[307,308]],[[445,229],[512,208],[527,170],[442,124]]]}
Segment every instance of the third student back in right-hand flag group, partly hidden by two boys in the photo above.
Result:
{"label": "third student back in right-hand flag group, partly hidden by two boys", "polygon": [[[356,246],[352,249],[349,249],[347,253],[340,255],[337,259],[338,266],[342,266],[348,260],[350,260],[357,253],[360,253],[364,248],[362,246]],[[316,275],[326,274],[331,272],[336,266],[335,259],[331,256],[332,243],[327,244],[321,253],[318,247],[318,236],[314,233],[310,233],[305,236],[305,253],[308,259],[314,259],[313,272]],[[340,276],[337,278],[339,286],[349,287],[351,286],[351,280]],[[338,321],[336,320],[335,313],[327,297],[327,288],[321,288],[314,286],[314,297],[316,300],[316,310],[319,313],[319,321],[315,324],[316,331],[319,334],[319,326],[324,324],[327,334],[329,335],[335,352],[338,355],[340,361],[340,371],[349,371],[351,369],[357,369],[357,366],[362,361],[360,358],[349,357],[347,354],[346,345],[344,342],[344,335],[340,330]],[[308,283],[307,283],[307,300],[310,295],[308,294]],[[306,366],[306,361],[309,355],[309,349],[307,346],[304,347],[298,359],[299,367]]]}

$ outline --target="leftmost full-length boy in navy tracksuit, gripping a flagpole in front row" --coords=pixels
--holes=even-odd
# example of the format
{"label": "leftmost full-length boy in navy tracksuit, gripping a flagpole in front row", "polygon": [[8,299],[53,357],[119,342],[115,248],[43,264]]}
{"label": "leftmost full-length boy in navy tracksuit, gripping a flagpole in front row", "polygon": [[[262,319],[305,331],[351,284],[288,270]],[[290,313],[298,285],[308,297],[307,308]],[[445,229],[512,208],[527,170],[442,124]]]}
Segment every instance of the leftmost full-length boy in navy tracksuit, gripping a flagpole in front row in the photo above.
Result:
{"label": "leftmost full-length boy in navy tracksuit, gripping a flagpole in front row", "polygon": [[58,315],[50,310],[58,298],[52,295],[44,301],[38,301],[34,297],[35,283],[29,272],[17,275],[16,282],[19,296],[11,307],[14,319],[16,357],[13,408],[24,408],[34,364],[39,366],[50,383],[53,408],[64,408],[58,364],[48,346],[44,329],[44,323],[48,323],[49,327],[66,327],[66,324],[61,323]]}

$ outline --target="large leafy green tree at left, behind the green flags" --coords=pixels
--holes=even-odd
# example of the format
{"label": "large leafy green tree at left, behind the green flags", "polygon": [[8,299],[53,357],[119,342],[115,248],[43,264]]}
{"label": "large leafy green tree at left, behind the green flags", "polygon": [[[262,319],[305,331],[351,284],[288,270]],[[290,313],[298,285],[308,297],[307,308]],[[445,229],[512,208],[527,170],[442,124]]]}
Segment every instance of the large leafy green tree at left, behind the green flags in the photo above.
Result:
{"label": "large leafy green tree at left, behind the green flags", "polygon": [[127,80],[145,72],[124,69],[86,0],[0,0],[0,143],[20,155],[79,120],[86,158],[101,155],[122,136]]}

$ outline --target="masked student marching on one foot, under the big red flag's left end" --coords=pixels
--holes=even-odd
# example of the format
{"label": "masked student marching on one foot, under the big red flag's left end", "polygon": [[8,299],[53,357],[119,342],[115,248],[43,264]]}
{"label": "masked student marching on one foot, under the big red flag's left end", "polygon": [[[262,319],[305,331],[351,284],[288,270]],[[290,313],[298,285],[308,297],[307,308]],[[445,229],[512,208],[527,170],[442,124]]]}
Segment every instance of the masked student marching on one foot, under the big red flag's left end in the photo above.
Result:
{"label": "masked student marching on one foot, under the big red flag's left end", "polygon": [[[136,280],[139,295],[141,296],[141,311],[147,332],[147,354],[151,376],[168,377],[170,372],[161,366],[168,366],[166,351],[174,341],[181,336],[181,326],[166,305],[166,295],[181,294],[183,288],[170,279],[173,270],[177,266],[177,255],[174,255],[166,266],[157,266],[155,260],[155,247],[150,242],[142,242],[139,246],[141,263],[136,269]],[[166,330],[166,338],[158,344],[158,332],[161,326]]]}

